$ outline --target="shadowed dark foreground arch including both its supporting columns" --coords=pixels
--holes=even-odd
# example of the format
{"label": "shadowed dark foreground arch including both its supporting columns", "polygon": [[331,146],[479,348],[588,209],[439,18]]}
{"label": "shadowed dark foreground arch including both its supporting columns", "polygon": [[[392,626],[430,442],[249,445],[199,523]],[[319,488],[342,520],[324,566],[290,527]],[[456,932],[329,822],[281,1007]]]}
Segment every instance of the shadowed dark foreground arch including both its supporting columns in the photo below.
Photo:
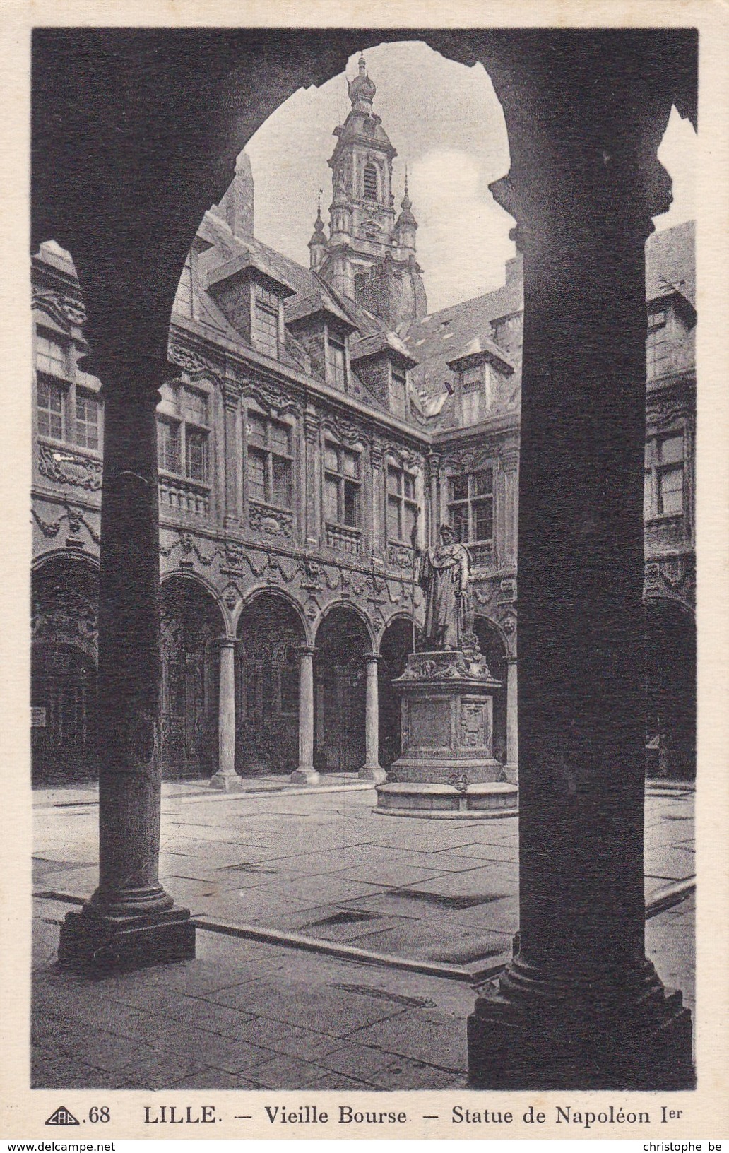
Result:
{"label": "shadowed dark foreground arch including both its supporting columns", "polygon": [[33,249],[54,236],[73,253],[106,393],[100,881],[68,914],[60,956],[110,941],[137,962],[194,949],[158,881],[155,405],[185,254],[277,103],[403,38],[484,63],[511,150],[494,193],[524,253],[520,934],[469,1020],[471,1084],[685,1088],[690,1016],[645,959],[637,654],[644,246],[669,202],[656,150],[671,105],[696,120],[692,29],[36,32]]}

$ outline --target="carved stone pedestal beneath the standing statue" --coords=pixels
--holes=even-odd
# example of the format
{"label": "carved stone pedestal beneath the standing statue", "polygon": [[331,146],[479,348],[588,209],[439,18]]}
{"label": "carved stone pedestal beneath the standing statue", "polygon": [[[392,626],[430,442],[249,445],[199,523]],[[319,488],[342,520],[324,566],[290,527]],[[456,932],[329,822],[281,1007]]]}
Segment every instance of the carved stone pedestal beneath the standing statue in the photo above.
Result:
{"label": "carved stone pedestal beneath the standing statue", "polygon": [[[501,684],[483,657],[413,653],[393,685],[401,693],[403,752],[377,789],[377,809],[422,816],[483,813],[503,808],[505,800],[513,808],[517,790],[504,793],[504,768],[493,752],[494,691]],[[469,805],[474,789],[479,802]]]}

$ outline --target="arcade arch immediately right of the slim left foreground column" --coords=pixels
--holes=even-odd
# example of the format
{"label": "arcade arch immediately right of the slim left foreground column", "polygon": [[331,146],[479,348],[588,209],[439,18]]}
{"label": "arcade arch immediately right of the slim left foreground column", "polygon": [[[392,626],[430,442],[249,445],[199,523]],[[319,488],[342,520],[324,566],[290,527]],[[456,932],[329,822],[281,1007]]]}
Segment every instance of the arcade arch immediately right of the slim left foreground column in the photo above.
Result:
{"label": "arcade arch immediately right of the slim left foreground column", "polygon": [[167,777],[209,777],[218,756],[220,638],[225,613],[197,574],[171,573],[159,594],[161,766]]}

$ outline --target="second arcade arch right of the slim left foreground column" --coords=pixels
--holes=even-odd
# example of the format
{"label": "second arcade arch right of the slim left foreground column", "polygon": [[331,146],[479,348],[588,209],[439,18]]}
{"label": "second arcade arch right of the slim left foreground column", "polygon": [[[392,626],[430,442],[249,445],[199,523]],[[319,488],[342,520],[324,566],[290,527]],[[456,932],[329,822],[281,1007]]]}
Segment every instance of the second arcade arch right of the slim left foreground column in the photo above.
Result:
{"label": "second arcade arch right of the slim left foreground column", "polygon": [[285,590],[260,586],[235,625],[235,763],[241,776],[290,774],[299,753],[301,608]]}

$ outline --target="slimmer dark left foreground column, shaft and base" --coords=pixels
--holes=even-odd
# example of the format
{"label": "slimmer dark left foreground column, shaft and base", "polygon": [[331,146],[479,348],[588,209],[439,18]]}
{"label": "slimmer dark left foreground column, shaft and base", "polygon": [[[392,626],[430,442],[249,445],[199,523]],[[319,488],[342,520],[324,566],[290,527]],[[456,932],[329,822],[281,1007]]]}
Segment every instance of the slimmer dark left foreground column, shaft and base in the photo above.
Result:
{"label": "slimmer dark left foreground column, shaft and base", "polygon": [[106,362],[99,571],[99,884],[61,926],[59,959],[195,955],[189,911],[158,877],[160,641],[157,366]]}

